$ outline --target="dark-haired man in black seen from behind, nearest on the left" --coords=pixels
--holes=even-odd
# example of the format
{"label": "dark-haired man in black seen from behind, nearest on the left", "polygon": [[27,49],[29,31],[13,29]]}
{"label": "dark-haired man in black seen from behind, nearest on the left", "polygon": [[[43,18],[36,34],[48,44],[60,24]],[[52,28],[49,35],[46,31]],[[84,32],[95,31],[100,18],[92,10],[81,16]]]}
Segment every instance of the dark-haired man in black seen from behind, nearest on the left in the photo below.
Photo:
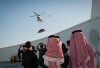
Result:
{"label": "dark-haired man in black seen from behind, nearest on the left", "polygon": [[38,58],[34,51],[30,50],[32,44],[30,41],[25,43],[26,51],[23,52],[23,66],[24,68],[38,68]]}

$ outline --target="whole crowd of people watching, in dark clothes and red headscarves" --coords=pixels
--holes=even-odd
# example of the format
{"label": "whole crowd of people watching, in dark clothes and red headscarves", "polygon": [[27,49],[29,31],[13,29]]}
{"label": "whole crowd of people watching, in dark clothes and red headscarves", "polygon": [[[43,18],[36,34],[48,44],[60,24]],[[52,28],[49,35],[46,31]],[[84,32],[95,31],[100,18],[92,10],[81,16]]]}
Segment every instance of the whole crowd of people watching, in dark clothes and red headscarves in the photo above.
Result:
{"label": "whole crowd of people watching, in dark clothes and red headscarves", "polygon": [[35,47],[27,41],[25,45],[20,46],[18,56],[22,59],[24,68],[38,68],[38,66],[42,68],[96,68],[96,53],[82,30],[73,31],[66,43],[67,46],[59,36],[50,35],[46,44],[37,45],[38,58]]}

